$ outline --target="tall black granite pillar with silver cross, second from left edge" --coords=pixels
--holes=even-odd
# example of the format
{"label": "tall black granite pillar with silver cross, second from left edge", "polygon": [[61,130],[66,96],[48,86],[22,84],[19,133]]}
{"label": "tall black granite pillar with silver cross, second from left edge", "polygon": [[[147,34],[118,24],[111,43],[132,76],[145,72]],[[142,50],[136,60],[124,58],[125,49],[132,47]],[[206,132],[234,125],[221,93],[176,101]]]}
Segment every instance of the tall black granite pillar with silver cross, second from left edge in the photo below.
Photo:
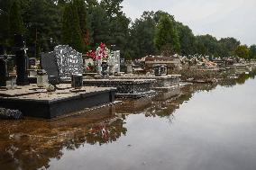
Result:
{"label": "tall black granite pillar with silver cross, second from left edge", "polygon": [[17,85],[29,85],[28,81],[28,56],[23,35],[14,35],[14,51],[16,55]]}

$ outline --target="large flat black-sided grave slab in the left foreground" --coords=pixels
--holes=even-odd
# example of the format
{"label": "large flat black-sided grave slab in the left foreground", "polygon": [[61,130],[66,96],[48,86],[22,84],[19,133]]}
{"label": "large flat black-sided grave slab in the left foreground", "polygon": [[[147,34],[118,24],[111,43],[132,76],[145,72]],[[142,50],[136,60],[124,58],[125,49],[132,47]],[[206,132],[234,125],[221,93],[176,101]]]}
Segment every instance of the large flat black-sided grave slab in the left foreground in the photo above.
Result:
{"label": "large flat black-sided grave slab in the left foreground", "polygon": [[55,92],[47,92],[37,85],[5,90],[0,88],[0,107],[19,110],[24,116],[53,119],[90,107],[114,102],[115,88],[58,85]]}

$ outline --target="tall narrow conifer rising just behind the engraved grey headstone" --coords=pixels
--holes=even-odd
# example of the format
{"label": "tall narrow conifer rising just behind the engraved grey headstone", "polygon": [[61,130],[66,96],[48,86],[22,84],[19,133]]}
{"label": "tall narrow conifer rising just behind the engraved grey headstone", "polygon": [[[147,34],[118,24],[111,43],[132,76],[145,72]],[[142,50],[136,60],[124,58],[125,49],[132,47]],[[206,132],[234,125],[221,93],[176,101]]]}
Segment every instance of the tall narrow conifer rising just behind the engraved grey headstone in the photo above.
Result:
{"label": "tall narrow conifer rising just behind the engraved grey headstone", "polygon": [[84,52],[85,43],[79,24],[78,8],[73,2],[66,5],[62,22],[62,43],[68,44],[79,52]]}

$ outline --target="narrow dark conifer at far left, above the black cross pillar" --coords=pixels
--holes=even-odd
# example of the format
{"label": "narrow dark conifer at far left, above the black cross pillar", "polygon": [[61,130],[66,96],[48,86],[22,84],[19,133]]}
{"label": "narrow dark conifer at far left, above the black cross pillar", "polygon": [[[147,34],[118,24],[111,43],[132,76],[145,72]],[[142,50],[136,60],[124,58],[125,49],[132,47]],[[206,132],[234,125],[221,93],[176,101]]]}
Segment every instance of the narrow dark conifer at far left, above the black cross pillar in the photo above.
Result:
{"label": "narrow dark conifer at far left, above the black cross pillar", "polygon": [[10,40],[14,39],[14,34],[23,34],[24,33],[24,25],[23,18],[21,15],[21,7],[19,1],[14,1],[10,9]]}

